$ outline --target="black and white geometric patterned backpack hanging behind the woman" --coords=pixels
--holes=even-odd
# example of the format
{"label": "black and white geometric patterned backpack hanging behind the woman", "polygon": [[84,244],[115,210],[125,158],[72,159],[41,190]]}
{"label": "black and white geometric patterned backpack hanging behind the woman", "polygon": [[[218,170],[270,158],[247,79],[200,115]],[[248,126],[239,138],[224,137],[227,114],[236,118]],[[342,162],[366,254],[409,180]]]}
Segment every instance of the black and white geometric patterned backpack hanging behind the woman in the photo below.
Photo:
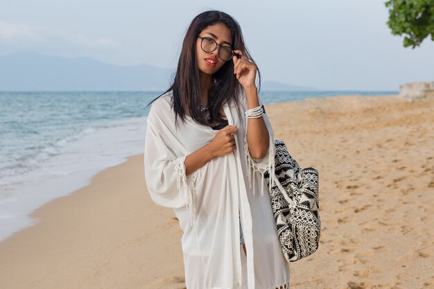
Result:
{"label": "black and white geometric patterned backpack hanging behind the woman", "polygon": [[[270,185],[270,173],[264,177]],[[275,177],[270,191],[281,249],[289,262],[313,254],[320,241],[319,174],[303,168],[290,156],[285,143],[275,140]]]}

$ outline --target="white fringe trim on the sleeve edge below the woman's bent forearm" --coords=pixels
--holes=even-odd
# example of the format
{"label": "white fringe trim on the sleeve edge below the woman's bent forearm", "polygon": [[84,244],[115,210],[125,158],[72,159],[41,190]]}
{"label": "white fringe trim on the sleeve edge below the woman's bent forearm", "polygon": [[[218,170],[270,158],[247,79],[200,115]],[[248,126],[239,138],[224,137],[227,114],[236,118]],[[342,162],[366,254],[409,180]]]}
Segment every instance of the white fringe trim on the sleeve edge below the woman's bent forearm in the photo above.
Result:
{"label": "white fringe trim on the sleeve edge below the woman's bent forearm", "polygon": [[180,197],[186,200],[186,207],[190,213],[190,225],[193,227],[196,220],[195,211],[195,189],[194,189],[194,176],[191,174],[188,177],[185,172],[185,156],[178,157],[175,166],[177,177],[177,190],[180,192]]}

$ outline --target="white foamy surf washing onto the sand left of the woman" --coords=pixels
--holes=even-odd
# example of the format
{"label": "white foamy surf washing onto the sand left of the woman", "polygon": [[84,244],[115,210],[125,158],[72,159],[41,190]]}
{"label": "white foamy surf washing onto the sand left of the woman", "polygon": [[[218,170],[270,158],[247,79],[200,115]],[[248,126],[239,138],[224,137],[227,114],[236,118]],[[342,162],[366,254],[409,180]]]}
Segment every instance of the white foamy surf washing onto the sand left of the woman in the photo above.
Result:
{"label": "white foamy surf washing onto the sand left of the woman", "polygon": [[36,161],[37,168],[1,177],[0,242],[35,225],[37,220],[29,216],[35,209],[88,186],[97,173],[142,152],[145,132],[146,117],[89,125],[78,132],[80,138],[74,135],[58,141],[70,139],[51,157]]}

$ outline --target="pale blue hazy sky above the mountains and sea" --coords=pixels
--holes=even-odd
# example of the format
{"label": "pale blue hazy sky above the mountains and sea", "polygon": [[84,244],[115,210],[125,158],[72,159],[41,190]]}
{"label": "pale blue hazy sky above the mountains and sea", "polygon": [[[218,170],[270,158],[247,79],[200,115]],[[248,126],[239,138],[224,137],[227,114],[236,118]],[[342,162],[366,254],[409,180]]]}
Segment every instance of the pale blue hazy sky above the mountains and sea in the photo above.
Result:
{"label": "pale blue hazy sky above the mountains and sea", "polygon": [[322,90],[399,90],[434,81],[434,42],[404,48],[381,0],[0,0],[0,55],[36,51],[173,72],[186,28],[232,15],[262,80]]}

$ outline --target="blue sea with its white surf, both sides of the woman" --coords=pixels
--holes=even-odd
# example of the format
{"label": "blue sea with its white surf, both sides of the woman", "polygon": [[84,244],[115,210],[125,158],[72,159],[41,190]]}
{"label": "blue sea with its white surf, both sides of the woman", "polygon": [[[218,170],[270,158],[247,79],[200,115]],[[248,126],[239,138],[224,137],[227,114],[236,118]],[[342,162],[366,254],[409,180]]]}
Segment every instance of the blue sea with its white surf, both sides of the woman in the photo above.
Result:
{"label": "blue sea with its white surf, both sides of the woman", "polygon": [[[162,91],[0,92],[0,241],[28,215],[144,150],[148,103]],[[398,91],[261,91],[265,104]]]}

